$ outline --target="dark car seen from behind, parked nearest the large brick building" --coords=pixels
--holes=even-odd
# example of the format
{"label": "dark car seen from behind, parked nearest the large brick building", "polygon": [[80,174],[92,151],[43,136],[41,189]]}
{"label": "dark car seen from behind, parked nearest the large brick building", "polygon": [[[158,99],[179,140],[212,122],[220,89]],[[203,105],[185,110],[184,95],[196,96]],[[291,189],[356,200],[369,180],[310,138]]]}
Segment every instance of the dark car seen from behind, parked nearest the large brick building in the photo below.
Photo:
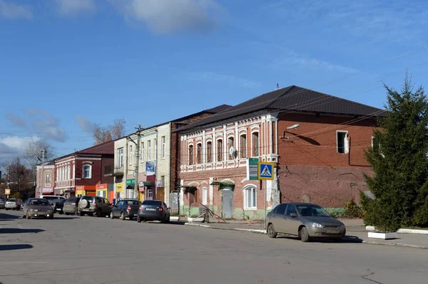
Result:
{"label": "dark car seen from behind, parked nearest the large brick building", "polygon": [[145,200],[138,209],[137,222],[161,221],[169,222],[170,211],[165,202],[160,200]]}

